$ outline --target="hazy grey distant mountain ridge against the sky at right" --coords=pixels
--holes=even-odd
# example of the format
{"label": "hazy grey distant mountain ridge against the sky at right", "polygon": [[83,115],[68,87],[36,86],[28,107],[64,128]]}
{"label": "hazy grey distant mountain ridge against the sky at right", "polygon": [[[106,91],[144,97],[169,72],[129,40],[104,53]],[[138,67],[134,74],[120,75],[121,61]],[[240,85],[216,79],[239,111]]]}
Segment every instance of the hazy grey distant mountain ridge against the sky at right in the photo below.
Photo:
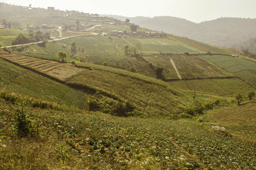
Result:
{"label": "hazy grey distant mountain ridge against the sky at right", "polygon": [[[218,18],[213,21],[193,23],[171,16],[156,16],[154,18],[108,16],[122,21],[128,18],[130,23],[144,28],[164,31],[220,47],[243,47],[244,42],[256,38],[255,18]],[[252,47],[249,50],[256,51],[256,48],[253,50]]]}

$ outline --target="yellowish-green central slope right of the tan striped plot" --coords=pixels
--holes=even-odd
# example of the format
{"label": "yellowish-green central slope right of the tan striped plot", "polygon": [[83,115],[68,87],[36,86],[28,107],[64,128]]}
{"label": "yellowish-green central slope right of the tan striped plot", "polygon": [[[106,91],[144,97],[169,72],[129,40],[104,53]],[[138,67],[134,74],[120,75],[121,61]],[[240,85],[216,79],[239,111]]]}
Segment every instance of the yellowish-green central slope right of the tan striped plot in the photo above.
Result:
{"label": "yellowish-green central slope right of the tan striped plot", "polygon": [[82,74],[68,80],[69,84],[90,86],[107,94],[132,101],[146,115],[171,115],[182,111],[190,101],[164,81],[143,77],[121,69],[84,64]]}

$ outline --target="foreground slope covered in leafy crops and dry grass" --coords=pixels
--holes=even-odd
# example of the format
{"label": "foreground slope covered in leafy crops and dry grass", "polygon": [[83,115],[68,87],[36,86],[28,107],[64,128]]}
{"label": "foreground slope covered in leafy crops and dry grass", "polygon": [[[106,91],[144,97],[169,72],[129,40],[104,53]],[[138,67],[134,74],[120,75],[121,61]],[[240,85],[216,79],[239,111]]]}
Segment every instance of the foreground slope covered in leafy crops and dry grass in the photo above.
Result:
{"label": "foreground slope covered in leafy crops and dry grass", "polygon": [[[255,142],[225,136],[208,123],[30,110],[38,133],[17,139],[9,130],[14,106],[0,98],[0,108],[0,132],[6,136],[0,138],[0,169],[254,169],[256,164]],[[65,164],[61,153],[69,155]]]}

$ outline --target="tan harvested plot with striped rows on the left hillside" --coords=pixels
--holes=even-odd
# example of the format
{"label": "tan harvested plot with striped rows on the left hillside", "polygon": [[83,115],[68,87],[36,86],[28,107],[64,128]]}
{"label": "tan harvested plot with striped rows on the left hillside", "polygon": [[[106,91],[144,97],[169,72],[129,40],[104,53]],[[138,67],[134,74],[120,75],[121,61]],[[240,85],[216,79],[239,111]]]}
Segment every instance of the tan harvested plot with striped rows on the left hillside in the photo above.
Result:
{"label": "tan harvested plot with striped rows on the left hillside", "polygon": [[63,81],[82,72],[82,69],[69,63],[53,62],[21,55],[1,55],[1,57]]}

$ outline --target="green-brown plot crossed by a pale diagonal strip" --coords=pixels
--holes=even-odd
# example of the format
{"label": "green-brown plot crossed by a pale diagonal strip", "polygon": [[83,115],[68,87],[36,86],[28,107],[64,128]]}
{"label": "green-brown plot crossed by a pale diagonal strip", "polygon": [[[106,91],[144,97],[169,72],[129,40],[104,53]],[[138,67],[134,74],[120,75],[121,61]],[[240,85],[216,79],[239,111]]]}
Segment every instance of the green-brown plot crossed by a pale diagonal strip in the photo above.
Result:
{"label": "green-brown plot crossed by a pale diagonal strip", "polygon": [[198,55],[155,55],[144,58],[157,67],[163,68],[166,79],[178,79],[171,60],[181,74],[181,79],[232,77],[232,74]]}

